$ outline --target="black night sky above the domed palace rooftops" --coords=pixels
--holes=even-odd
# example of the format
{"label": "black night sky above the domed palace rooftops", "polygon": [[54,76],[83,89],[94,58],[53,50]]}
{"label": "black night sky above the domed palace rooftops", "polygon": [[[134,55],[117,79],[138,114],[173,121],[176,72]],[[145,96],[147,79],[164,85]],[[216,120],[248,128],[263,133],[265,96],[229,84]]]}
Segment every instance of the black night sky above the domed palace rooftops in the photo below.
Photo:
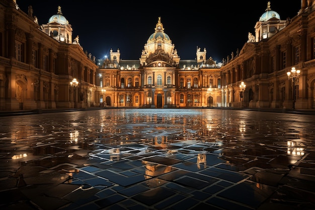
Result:
{"label": "black night sky above the domed palace rooftops", "polygon": [[[158,18],[181,59],[195,59],[197,46],[206,48],[206,58],[217,62],[237,48],[242,49],[248,33],[255,33],[255,24],[265,12],[268,1],[198,1],[152,3],[136,1],[72,1],[17,0],[25,13],[33,7],[39,24],[57,14],[71,24],[72,38],[80,38],[84,51],[97,59],[120,50],[121,59],[138,59],[149,36],[154,33]],[[274,0],[271,9],[281,20],[293,18],[300,9],[300,0]],[[156,3],[156,4],[154,4]],[[197,4],[195,4],[197,3]]]}

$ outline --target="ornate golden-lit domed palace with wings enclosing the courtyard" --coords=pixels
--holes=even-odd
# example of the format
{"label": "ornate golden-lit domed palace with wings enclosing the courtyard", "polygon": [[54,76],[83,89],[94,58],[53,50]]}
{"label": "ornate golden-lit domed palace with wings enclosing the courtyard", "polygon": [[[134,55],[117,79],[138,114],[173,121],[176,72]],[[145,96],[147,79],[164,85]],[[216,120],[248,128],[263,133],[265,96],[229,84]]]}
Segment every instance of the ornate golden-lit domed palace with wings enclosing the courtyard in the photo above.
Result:
{"label": "ornate golden-lit domed palace with wings enclosing the courtyard", "polygon": [[199,47],[182,60],[160,17],[138,60],[120,59],[119,49],[96,59],[61,9],[39,25],[31,6],[26,13],[16,0],[0,2],[0,111],[315,108],[315,1],[302,0],[286,20],[269,2],[248,41],[221,62]]}

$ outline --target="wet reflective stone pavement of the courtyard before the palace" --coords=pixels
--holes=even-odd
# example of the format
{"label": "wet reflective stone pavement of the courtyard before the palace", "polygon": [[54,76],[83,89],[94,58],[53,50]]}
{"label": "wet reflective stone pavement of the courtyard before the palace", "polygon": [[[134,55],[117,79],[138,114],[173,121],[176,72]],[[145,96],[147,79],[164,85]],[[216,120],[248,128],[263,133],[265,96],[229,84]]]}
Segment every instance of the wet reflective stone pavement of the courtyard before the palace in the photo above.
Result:
{"label": "wet reflective stone pavement of the courtyard before the palace", "polygon": [[312,115],[105,109],[0,117],[1,209],[315,209]]}

